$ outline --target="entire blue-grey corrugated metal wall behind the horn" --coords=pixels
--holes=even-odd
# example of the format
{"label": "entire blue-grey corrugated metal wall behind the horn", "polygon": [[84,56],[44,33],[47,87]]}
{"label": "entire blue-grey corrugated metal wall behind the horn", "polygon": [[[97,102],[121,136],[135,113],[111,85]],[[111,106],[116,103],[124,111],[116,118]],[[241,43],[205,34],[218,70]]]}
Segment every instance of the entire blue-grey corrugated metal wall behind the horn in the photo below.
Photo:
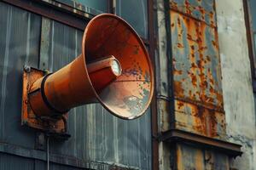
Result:
{"label": "entire blue-grey corrugated metal wall behind the horn", "polygon": [[[20,126],[23,65],[56,71],[81,53],[83,32],[5,3],[0,3],[0,25],[0,145],[5,144],[0,151],[37,159],[38,167],[22,169],[42,169],[43,161],[37,162],[44,160],[45,152],[35,150],[35,132]],[[61,156],[60,162],[65,164],[69,164],[66,158],[72,158],[151,169],[150,129],[150,111],[137,120],[123,121],[99,104],[78,107],[69,113],[68,133],[72,137],[49,140],[50,160],[60,161],[55,157]],[[6,149],[13,146],[14,150]],[[0,160],[7,159],[6,154],[0,155]],[[1,166],[12,169],[9,163]]]}

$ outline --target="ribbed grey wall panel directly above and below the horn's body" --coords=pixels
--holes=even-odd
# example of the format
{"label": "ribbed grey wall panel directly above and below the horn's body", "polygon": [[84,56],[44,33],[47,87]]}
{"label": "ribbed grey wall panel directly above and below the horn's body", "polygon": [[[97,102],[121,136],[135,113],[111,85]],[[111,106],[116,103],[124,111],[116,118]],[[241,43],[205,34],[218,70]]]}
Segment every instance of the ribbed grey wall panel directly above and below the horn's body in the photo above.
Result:
{"label": "ribbed grey wall panel directly above and below the horn's body", "polygon": [[[81,53],[82,36],[82,31],[51,21],[49,37],[45,38],[50,41],[49,49],[44,48],[49,51],[50,71],[67,65]],[[50,150],[89,161],[150,169],[150,129],[149,110],[137,120],[124,121],[100,104],[80,106],[69,112],[68,133],[72,137],[65,142],[50,140]]]}

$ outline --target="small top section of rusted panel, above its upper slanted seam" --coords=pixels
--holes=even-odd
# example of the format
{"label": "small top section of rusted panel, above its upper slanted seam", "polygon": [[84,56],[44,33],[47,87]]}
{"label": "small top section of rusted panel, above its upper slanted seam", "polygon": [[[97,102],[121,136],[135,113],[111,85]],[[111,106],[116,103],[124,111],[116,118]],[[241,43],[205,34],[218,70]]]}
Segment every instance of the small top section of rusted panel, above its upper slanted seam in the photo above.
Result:
{"label": "small top section of rusted panel, above its upper slanted seam", "polygon": [[214,0],[170,0],[170,7],[172,10],[201,20],[208,26],[216,26]]}

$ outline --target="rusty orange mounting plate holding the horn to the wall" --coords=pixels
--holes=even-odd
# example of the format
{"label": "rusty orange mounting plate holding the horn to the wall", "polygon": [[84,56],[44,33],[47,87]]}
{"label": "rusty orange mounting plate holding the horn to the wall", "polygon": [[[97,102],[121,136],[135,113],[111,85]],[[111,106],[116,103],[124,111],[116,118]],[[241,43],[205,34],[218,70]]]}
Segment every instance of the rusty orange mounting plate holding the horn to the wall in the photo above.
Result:
{"label": "rusty orange mounting plate holding the horn to the wall", "polygon": [[51,136],[63,139],[70,137],[67,134],[67,113],[58,117],[42,117],[37,116],[28,100],[28,92],[32,83],[37,81],[38,78],[44,77],[47,71],[40,71],[30,66],[25,66],[23,71],[23,87],[22,87],[22,111],[21,111],[21,125],[32,127],[34,129],[44,131]]}

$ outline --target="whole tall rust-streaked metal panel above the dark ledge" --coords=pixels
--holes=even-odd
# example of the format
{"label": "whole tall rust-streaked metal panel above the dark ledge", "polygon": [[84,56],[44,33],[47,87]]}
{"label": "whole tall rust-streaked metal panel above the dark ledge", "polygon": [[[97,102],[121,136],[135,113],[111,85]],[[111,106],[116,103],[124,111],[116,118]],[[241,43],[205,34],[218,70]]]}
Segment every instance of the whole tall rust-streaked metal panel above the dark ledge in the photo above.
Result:
{"label": "whole tall rust-streaked metal panel above the dark ledge", "polygon": [[225,139],[214,1],[170,1],[175,127]]}

